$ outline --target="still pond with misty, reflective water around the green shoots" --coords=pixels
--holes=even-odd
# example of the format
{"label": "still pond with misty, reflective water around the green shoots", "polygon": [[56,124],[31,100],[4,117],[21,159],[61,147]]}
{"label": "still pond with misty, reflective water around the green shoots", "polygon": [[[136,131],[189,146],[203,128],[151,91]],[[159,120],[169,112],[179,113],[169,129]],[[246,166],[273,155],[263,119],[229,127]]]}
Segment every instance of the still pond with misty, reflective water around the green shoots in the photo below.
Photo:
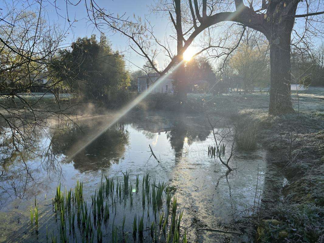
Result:
{"label": "still pond with misty, reflective water around the green shoots", "polygon": [[[271,206],[281,199],[285,178],[278,168],[267,163],[266,151],[261,148],[249,154],[236,151],[230,162],[236,170],[230,174],[217,157],[208,155],[208,146],[214,145],[214,141],[204,117],[133,112],[107,129],[105,124],[109,119],[107,113],[79,117],[76,122],[51,120],[48,127],[35,131],[28,149],[2,154],[0,242],[52,242],[54,235],[57,242],[62,242],[60,213],[55,211],[52,198],[60,183],[63,194],[65,187],[67,191],[72,188],[73,194],[77,180],[83,181],[83,200],[87,202],[83,207],[89,212],[93,210],[91,195],[98,193],[105,176],[122,186],[113,190],[115,194],[106,195],[110,216],[100,225],[103,242],[116,240],[116,235],[118,242],[152,242],[155,238],[167,242],[168,233],[164,235],[163,226],[159,226],[161,215],[167,227],[172,224],[171,209],[165,204],[166,190],[162,196],[164,206],[156,210],[152,206],[152,190],[145,192],[145,182],[142,185],[145,175],[150,179],[149,184],[154,180],[156,185],[159,181],[166,183],[171,204],[176,195],[176,214],[179,216],[183,210],[179,242],[184,231],[189,242],[253,242],[254,227],[242,216],[251,215],[253,206],[262,203]],[[220,128],[221,125],[220,122]],[[127,193],[123,195],[127,196],[119,197],[121,191],[126,191],[121,183],[126,171],[130,173],[128,181],[133,189],[126,183]],[[139,188],[135,186],[137,175]],[[35,207],[35,199],[39,211],[37,227],[30,223],[30,208]],[[98,216],[94,219],[88,214],[93,224],[98,221]],[[70,213],[66,215],[71,217]],[[137,231],[133,235],[135,215],[136,222],[143,217],[143,237]],[[82,223],[81,227],[76,226],[75,222],[75,229],[71,230],[71,223],[67,223],[67,218],[65,221],[69,242],[92,242],[91,235],[82,237],[86,226],[82,228]],[[153,237],[152,222],[156,231]],[[98,224],[94,225],[95,231]],[[93,242],[100,240],[97,233],[93,233]]]}

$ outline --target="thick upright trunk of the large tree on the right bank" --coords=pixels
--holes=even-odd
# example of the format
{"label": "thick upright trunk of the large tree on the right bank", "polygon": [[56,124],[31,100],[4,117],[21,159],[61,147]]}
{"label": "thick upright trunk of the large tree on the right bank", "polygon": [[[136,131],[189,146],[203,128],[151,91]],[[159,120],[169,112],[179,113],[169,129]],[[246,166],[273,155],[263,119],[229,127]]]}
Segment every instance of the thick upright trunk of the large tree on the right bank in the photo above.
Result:
{"label": "thick upright trunk of the large tree on the right bank", "polygon": [[[287,33],[288,32],[288,33]],[[287,31],[270,41],[269,114],[294,112],[290,96],[290,35]]]}

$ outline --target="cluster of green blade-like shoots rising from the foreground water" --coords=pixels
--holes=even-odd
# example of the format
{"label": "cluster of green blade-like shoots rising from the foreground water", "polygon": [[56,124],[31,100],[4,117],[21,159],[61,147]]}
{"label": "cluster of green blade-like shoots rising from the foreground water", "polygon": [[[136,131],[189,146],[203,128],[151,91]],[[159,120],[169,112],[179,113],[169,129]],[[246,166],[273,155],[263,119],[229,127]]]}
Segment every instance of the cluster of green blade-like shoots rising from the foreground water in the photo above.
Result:
{"label": "cluster of green blade-like shoots rising from the foreground water", "polygon": [[[56,206],[56,210],[60,213],[60,227],[59,227],[59,233],[60,233],[60,241],[61,242],[68,242],[72,238],[69,238],[73,236],[77,242],[85,242],[85,243],[92,243],[94,241],[94,235],[97,235],[97,242],[103,241],[103,230],[108,228],[108,221],[110,216],[110,207],[112,210],[112,213],[116,216],[116,214],[120,214],[118,210],[122,210],[122,207],[118,205],[121,204],[121,201],[124,201],[124,210],[126,207],[126,201],[128,199],[128,191],[126,188],[133,190],[133,184],[131,181],[127,181],[129,179],[129,172],[123,173],[124,175],[124,183],[121,181],[118,182],[118,178],[116,179],[116,183],[113,179],[108,178],[107,176],[101,178],[101,182],[98,186],[98,189],[95,190],[94,194],[91,196],[91,206],[88,207],[87,201],[83,198],[83,182],[79,182],[77,180],[75,185],[75,191],[67,190],[65,188],[64,193],[61,191],[61,184],[57,186],[56,195],[55,198],[52,199],[52,206]],[[136,236],[137,232],[141,239],[143,240],[143,233],[144,233],[144,224],[146,221],[146,224],[150,225],[150,233],[152,236],[153,241],[157,242],[158,238],[160,237],[160,230],[162,228],[164,234],[168,231],[168,213],[165,215],[165,211],[162,207],[158,205],[162,205],[163,202],[163,193],[166,193],[167,198],[167,208],[169,212],[169,207],[171,203],[171,193],[169,191],[169,187],[162,181],[156,183],[156,180],[153,179],[152,183],[149,184],[150,177],[149,174],[146,173],[145,176],[143,176],[143,183],[142,183],[142,203],[143,203],[143,214],[142,216],[137,216],[137,214],[134,215],[133,219],[133,234]],[[129,183],[126,187],[125,183]],[[148,184],[148,190],[147,190],[147,184]],[[116,185],[116,187],[114,187]],[[139,175],[136,176],[136,184],[135,186],[139,185]],[[114,194],[114,191],[116,191],[116,195]],[[138,191],[138,190],[136,190]],[[146,198],[145,198],[146,197]],[[131,202],[131,205],[133,204],[133,199],[135,200],[141,200],[138,196],[133,196],[132,191],[129,194],[129,200]],[[117,201],[117,203],[116,203]],[[144,220],[144,213],[145,213],[145,202],[147,203],[147,219],[145,217]],[[37,205],[35,200],[35,205]],[[152,206],[152,207],[151,207]],[[38,215],[38,210],[35,207],[35,215],[34,210],[31,208],[31,217],[36,217]],[[71,211],[70,211],[71,210]],[[56,212],[57,212],[56,211]],[[152,214],[153,211],[153,220],[150,222],[150,214]],[[75,215],[76,214],[76,215]],[[157,214],[159,215],[157,218]],[[179,226],[181,223],[183,215],[183,210],[178,210],[178,202],[177,197],[174,195],[173,197],[173,203],[172,203],[172,221],[171,221],[171,227],[170,231],[178,232],[178,238],[179,238]],[[37,216],[38,217],[38,216]],[[66,218],[67,217],[67,218]],[[128,214],[123,214],[122,221],[121,221],[121,230],[123,235],[123,241],[126,242],[126,237],[124,236],[124,230],[127,227],[126,223],[126,217],[128,217]],[[75,224],[75,218],[77,219],[77,222]],[[36,220],[36,219],[35,219]],[[115,217],[114,217],[115,220]],[[31,218],[31,222],[33,221],[33,218]],[[69,223],[69,230],[70,234],[67,236],[66,234],[66,221]],[[38,224],[38,219],[36,220],[36,224]],[[104,223],[104,227],[102,227],[102,223]],[[157,229],[157,225],[159,225],[160,230]],[[72,233],[71,233],[71,226],[72,226]],[[74,226],[77,226],[77,228],[74,228]],[[111,234],[112,236],[112,242],[116,243],[120,241],[118,239],[118,227],[112,226],[111,228]],[[125,232],[127,233],[127,232]],[[79,236],[77,236],[79,234]],[[106,235],[106,234],[105,234]],[[169,235],[169,241],[170,241],[170,234]],[[183,238],[183,237],[182,237]],[[54,238],[53,238],[54,240]],[[73,240],[74,241],[74,240]],[[179,241],[179,239],[178,239]]]}

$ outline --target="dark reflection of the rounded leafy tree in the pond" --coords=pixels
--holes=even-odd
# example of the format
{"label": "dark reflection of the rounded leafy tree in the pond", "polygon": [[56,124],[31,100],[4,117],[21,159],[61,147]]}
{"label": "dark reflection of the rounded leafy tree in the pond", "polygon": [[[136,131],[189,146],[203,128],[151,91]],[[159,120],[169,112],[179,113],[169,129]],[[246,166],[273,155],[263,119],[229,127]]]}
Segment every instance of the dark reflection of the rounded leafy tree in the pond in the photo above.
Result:
{"label": "dark reflection of the rounded leafy tree in the pond", "polygon": [[101,128],[100,124],[87,125],[90,124],[77,126],[71,122],[67,128],[53,130],[52,153],[64,155],[67,158],[65,161],[73,162],[74,168],[80,172],[97,171],[110,167],[111,163],[118,163],[129,143],[128,131],[126,126],[121,123],[102,133],[96,140],[76,154],[72,161],[68,160],[78,142],[90,140],[98,127]]}

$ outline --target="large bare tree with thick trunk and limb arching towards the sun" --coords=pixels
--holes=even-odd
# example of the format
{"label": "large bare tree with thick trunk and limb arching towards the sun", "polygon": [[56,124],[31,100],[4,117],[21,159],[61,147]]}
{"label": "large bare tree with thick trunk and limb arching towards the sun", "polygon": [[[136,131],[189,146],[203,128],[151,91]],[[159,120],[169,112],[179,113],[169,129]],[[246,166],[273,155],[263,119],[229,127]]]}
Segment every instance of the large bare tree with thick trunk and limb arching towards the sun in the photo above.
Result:
{"label": "large bare tree with thick trunk and limb arching towards the sun", "polygon": [[[169,15],[173,24],[177,52],[173,53],[170,44],[165,41],[162,44],[153,32],[153,26],[145,19],[135,18],[129,21],[128,18],[111,19],[111,14],[100,8],[93,0],[90,0],[91,7],[88,7],[90,19],[97,27],[107,25],[113,31],[119,32],[133,41],[133,50],[153,65],[153,60],[158,54],[157,47],[164,51],[170,58],[165,69],[156,72],[164,75],[176,64],[181,63],[182,55],[193,41],[201,34],[208,34],[211,28],[225,21],[233,21],[245,27],[260,31],[270,43],[270,66],[271,66],[271,88],[270,88],[270,114],[281,114],[294,112],[290,97],[290,46],[293,41],[295,45],[310,40],[309,37],[322,31],[322,2],[300,1],[300,0],[262,0],[261,2],[243,0],[229,2],[207,1],[207,0],[161,0],[154,7]],[[305,12],[303,14],[296,14]],[[298,25],[294,29],[295,21],[304,18],[303,26]],[[214,33],[212,33],[214,34]],[[308,38],[308,39],[307,39]],[[241,38],[239,38],[239,41]],[[154,44],[152,44],[154,42]],[[208,43],[208,46],[196,54],[206,52],[210,49],[221,48],[222,46]],[[181,80],[177,80],[179,93],[184,93]]]}

